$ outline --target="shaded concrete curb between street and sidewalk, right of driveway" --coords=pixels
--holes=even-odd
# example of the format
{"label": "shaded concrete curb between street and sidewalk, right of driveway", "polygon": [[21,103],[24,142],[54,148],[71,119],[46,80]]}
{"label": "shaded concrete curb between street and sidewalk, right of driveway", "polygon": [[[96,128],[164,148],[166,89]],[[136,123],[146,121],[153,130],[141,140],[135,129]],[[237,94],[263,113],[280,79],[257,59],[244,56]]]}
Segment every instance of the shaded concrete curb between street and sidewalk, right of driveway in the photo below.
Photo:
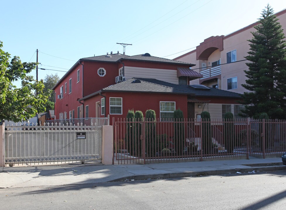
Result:
{"label": "shaded concrete curb between street and sidewalk, right of driveway", "polygon": [[[257,165],[257,164],[256,164]],[[235,174],[236,172],[248,173],[249,171],[278,171],[286,170],[286,166],[261,166],[261,167],[251,167],[247,169],[223,169],[223,170],[206,170],[206,171],[196,171],[196,172],[184,172],[184,173],[165,173],[165,174],[146,174],[146,175],[134,175],[125,176],[122,178],[114,179],[109,182],[125,181],[127,180],[145,180],[145,179],[157,179],[157,178],[180,178],[180,177],[190,177],[190,176],[208,176],[208,175],[218,175],[218,174]]]}

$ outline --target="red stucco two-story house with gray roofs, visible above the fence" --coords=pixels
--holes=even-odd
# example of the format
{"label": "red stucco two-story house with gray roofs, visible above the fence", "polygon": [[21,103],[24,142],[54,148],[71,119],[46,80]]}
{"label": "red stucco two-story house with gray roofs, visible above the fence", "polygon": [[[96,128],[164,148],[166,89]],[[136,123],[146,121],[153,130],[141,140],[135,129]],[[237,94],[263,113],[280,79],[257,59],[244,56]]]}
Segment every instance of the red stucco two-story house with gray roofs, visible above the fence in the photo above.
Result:
{"label": "red stucco two-story house with gray roofs, visible above the fence", "polygon": [[165,120],[180,108],[185,118],[209,111],[222,118],[238,116],[239,95],[234,92],[188,85],[202,75],[194,64],[142,55],[110,54],[82,58],[54,86],[55,119],[125,118],[129,109],[153,109]]}

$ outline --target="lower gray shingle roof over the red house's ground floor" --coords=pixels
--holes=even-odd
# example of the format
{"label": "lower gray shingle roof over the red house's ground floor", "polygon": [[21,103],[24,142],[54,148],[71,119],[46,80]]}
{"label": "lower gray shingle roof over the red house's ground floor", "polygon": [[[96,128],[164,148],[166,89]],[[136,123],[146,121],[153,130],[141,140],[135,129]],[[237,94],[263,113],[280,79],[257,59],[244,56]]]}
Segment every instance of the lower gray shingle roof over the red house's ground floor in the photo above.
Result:
{"label": "lower gray shingle roof over the red house's ground floor", "polygon": [[[141,83],[132,83],[135,79],[139,79]],[[173,94],[187,94],[195,96],[208,97],[231,97],[240,98],[238,93],[219,90],[216,88],[209,88],[207,90],[200,90],[191,87],[190,85],[176,85],[157,79],[148,78],[131,78],[116,85],[111,85],[102,89],[102,92],[154,92],[154,93],[173,93]]]}

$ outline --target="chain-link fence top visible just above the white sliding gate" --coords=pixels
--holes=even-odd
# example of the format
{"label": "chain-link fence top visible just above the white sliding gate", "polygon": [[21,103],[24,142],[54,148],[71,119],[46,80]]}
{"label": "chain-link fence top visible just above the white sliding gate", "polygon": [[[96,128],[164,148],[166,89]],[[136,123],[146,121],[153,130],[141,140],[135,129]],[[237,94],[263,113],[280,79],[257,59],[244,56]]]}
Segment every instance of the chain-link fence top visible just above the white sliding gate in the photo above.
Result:
{"label": "chain-link fence top visible just above the white sliding gate", "polygon": [[109,125],[109,115],[107,118],[74,118],[74,119],[62,119],[62,120],[46,120],[42,125],[53,125],[53,126],[102,126]]}

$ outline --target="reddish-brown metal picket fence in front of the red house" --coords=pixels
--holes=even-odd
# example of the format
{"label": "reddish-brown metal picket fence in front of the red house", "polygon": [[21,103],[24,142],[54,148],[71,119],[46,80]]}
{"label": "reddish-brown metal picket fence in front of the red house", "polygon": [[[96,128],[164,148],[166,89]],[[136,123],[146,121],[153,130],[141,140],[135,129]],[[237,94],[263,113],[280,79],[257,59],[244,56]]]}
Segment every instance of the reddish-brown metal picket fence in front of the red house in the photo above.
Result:
{"label": "reddish-brown metal picket fence in front of the red house", "polygon": [[119,164],[276,157],[286,152],[285,120],[117,120]]}

